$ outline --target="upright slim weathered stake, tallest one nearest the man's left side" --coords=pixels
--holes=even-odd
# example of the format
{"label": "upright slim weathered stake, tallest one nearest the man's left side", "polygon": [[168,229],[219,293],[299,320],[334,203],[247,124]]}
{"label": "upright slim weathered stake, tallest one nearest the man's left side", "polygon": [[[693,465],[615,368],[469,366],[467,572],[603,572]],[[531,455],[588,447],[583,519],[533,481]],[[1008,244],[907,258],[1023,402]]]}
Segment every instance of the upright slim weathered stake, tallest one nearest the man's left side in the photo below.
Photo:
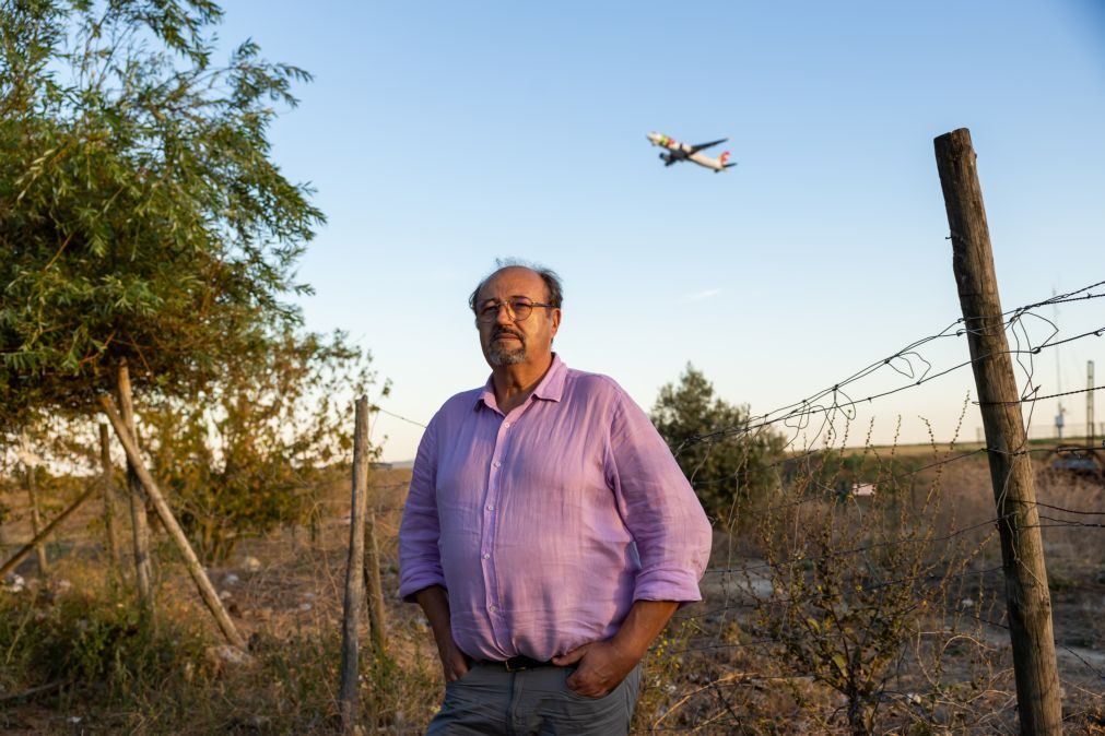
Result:
{"label": "upright slim weathered stake, tallest one nearest the man's left side", "polygon": [[349,558],[346,566],[345,618],[341,623],[341,728],[357,727],[358,628],[365,605],[365,514],[368,506],[368,399],[357,399],[352,450],[352,499],[349,511]]}

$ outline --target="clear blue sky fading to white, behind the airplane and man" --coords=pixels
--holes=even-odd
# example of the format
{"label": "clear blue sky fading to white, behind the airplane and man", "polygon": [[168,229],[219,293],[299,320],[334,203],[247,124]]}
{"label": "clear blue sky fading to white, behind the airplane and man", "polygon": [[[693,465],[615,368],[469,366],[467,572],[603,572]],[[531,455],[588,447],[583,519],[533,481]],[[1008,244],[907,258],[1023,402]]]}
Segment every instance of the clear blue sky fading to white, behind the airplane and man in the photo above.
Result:
{"label": "clear blue sky fading to white, behind the airplane and man", "polygon": [[[561,356],[645,408],[688,361],[765,413],[939,331],[959,306],[933,138],[959,127],[1003,306],[1105,279],[1099,2],[225,10],[228,47],[252,38],[315,75],[272,130],[329,218],[299,271],[317,291],[307,326],[370,349],[393,385],[382,406],[421,423],[486,378],[465,300],[498,256],[560,273]],[[728,137],[717,150],[739,166],[665,169],[650,130]],[[1044,316],[1064,333],[1105,326],[1101,301]],[[1042,393],[1084,386],[1088,360],[1105,375],[1105,339],[1054,352],[1032,376]],[[938,369],[967,345],[924,354]],[[888,440],[901,416],[918,441],[924,417],[948,439],[971,387],[959,371],[872,403],[856,431],[874,417]],[[1051,424],[1041,404],[1033,424]],[[1082,397],[1065,405],[1084,422]],[[979,424],[971,407],[962,434]],[[420,429],[382,415],[373,434],[402,460]]]}

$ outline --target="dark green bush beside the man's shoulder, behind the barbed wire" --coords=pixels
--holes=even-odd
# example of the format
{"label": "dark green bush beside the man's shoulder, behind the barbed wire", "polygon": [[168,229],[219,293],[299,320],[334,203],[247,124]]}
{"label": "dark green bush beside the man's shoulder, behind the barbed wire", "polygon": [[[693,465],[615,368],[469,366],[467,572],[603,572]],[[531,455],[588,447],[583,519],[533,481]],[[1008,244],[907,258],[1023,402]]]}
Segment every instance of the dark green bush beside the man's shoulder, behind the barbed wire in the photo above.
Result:
{"label": "dark green bush beside the man's shoulder, behind the barbed wire", "polygon": [[749,431],[748,409],[714,395],[714,385],[690,363],[680,383],[660,390],[652,423],[667,441],[707,513],[735,523],[738,500],[759,500],[777,487],[769,466],[786,438],[770,428]]}

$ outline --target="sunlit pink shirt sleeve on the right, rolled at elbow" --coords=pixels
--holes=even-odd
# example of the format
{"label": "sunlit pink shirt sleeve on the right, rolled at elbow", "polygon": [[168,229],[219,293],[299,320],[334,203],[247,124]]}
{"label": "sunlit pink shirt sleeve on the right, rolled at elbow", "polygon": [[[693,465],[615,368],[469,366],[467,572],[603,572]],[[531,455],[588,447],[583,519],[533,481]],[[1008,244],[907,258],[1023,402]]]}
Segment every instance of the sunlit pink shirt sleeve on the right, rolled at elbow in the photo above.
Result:
{"label": "sunlit pink shirt sleeve on the right, rolled at elbow", "polygon": [[702,600],[709,521],[663,438],[624,394],[614,407],[606,466],[641,559],[633,600]]}

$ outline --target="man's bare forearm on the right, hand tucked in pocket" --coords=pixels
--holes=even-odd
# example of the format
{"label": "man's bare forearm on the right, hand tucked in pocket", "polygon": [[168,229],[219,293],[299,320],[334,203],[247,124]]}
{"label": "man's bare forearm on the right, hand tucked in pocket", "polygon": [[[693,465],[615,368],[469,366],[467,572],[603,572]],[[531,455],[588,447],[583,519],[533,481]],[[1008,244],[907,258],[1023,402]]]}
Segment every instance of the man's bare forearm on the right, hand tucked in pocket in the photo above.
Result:
{"label": "man's bare forearm on the right, hand tucked in pocket", "polygon": [[552,663],[567,666],[579,662],[568,686],[587,697],[602,697],[636,666],[678,606],[674,600],[638,600],[613,637],[554,657]]}

